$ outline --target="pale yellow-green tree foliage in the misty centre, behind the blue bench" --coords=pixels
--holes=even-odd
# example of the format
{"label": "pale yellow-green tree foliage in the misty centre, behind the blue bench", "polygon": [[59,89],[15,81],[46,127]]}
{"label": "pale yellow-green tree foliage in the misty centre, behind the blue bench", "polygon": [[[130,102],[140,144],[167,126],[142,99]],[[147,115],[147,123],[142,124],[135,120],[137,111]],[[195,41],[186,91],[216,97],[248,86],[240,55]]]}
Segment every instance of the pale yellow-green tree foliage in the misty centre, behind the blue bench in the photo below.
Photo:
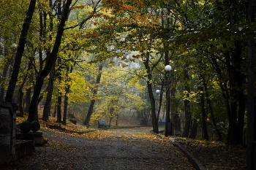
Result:
{"label": "pale yellow-green tree foliage in the misty centre, behind the blue bench", "polygon": [[131,108],[141,110],[145,107],[145,102],[140,98],[139,93],[145,87],[139,84],[135,75],[129,74],[128,69],[122,67],[111,67],[102,73],[99,96],[101,100],[97,104],[94,119],[99,117],[113,117],[118,119],[118,115],[124,109]]}

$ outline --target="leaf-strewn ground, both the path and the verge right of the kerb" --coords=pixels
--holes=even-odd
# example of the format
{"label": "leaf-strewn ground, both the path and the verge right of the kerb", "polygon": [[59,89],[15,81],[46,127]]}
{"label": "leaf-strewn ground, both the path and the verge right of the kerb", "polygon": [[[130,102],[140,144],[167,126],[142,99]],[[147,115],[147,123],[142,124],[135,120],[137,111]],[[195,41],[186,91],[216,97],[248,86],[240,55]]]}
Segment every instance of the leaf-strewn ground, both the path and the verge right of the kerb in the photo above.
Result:
{"label": "leaf-strewn ground, both the path and the verge right of the kerb", "polygon": [[[85,128],[41,124],[47,143],[0,169],[195,169],[180,144],[206,169],[246,169],[246,148],[151,133],[151,127]],[[159,126],[163,130],[164,126]]]}

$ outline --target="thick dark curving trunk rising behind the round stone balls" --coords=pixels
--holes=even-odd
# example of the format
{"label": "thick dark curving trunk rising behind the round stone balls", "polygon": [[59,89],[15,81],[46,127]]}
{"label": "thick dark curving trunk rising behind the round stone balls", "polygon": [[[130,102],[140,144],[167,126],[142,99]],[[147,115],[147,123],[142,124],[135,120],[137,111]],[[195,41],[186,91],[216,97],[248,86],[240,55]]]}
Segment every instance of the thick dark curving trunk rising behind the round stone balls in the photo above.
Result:
{"label": "thick dark curving trunk rising behind the round stone balls", "polygon": [[48,74],[50,73],[50,69],[53,67],[53,64],[56,62],[56,58],[57,58],[57,54],[59,51],[59,46],[61,45],[61,38],[64,32],[64,26],[65,26],[65,22],[67,20],[68,17],[68,13],[69,13],[69,6],[71,4],[72,0],[67,0],[67,4],[64,7],[64,12],[61,16],[61,23],[59,23],[59,28],[57,31],[57,35],[56,35],[56,40],[53,46],[53,50],[50,53],[49,58],[47,58],[47,61],[45,63],[45,68],[42,70],[42,72],[39,73],[39,76],[37,78],[37,82],[36,85],[34,86],[34,94],[32,96],[31,99],[31,104],[29,107],[29,117],[28,120],[30,122],[34,121],[35,119],[35,111],[36,111],[36,107],[37,107],[37,100],[39,98],[40,92],[42,90],[42,85],[43,82],[45,80],[45,77],[48,76]]}

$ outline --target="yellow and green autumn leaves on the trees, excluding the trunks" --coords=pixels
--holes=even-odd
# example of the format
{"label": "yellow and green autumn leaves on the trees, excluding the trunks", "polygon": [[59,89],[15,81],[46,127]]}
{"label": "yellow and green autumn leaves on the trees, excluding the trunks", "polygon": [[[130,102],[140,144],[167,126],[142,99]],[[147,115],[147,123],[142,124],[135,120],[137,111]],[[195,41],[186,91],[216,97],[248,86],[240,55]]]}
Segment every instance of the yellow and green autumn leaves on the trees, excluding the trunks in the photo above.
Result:
{"label": "yellow and green autumn leaves on the trees, excluding the trunks", "polygon": [[[150,106],[145,99],[148,93],[142,84],[150,73],[152,79],[148,81],[153,88],[165,85],[164,67],[169,61],[173,67],[171,88],[176,90],[172,96],[173,112],[181,115],[183,101],[189,100],[192,116],[200,119],[200,96],[206,91],[198,87],[203,85],[204,76],[217,125],[222,134],[227,133],[227,127],[223,126],[227,120],[223,91],[228,95],[232,90],[235,93],[243,90],[246,95],[246,80],[243,79],[240,86],[232,85],[232,80],[236,80],[237,72],[246,77],[245,37],[255,31],[255,24],[246,21],[241,1],[103,0],[99,4],[74,3],[61,40],[60,62],[55,66],[61,81],[57,77],[54,80],[54,100],[59,92],[65,93],[65,88],[70,86],[69,103],[97,101],[94,119],[102,116],[117,119],[125,108],[148,109]],[[1,1],[1,73],[12,61],[15,53],[12,45],[18,44],[28,5],[26,0]],[[18,77],[18,85],[28,77],[24,91],[33,86],[53,48],[59,26],[56,12],[48,1],[37,1],[37,12],[31,23]],[[41,51],[42,56],[39,55]],[[151,68],[149,72],[143,69],[146,58]],[[29,69],[31,61],[33,66]],[[102,82],[96,85],[97,67],[103,61]],[[185,69],[189,80],[184,78]],[[48,80],[45,80],[45,89],[47,84]],[[5,85],[2,78],[1,85]],[[191,90],[184,90],[185,85]],[[99,93],[94,96],[92,90],[98,87]],[[228,103],[233,101],[236,96],[227,99]],[[204,107],[208,108],[207,105]],[[210,116],[208,120],[212,121]]]}

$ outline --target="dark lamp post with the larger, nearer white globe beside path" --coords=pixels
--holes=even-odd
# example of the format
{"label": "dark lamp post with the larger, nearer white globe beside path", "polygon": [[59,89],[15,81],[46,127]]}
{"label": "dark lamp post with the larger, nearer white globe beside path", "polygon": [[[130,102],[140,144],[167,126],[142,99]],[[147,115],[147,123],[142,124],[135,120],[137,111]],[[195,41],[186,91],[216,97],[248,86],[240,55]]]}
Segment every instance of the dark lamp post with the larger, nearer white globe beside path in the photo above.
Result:
{"label": "dark lamp post with the larger, nearer white globe beside path", "polygon": [[165,114],[165,136],[172,134],[172,123],[170,122],[170,80],[167,75],[172,67],[170,65],[165,66],[166,72],[166,114]]}

